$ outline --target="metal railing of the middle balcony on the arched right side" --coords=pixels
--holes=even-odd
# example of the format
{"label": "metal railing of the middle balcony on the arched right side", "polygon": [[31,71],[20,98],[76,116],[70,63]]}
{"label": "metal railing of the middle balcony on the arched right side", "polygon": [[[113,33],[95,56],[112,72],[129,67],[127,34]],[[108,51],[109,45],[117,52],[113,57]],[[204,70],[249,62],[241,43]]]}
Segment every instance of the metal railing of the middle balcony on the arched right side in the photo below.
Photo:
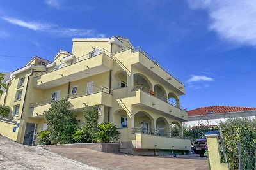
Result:
{"label": "metal railing of the middle balcony on the arched right side", "polygon": [[180,110],[186,111],[187,109],[184,108],[183,106],[180,106],[180,104],[177,104],[173,101],[170,101],[170,99],[167,99],[166,97],[162,96],[161,94],[157,94],[156,92],[149,90],[147,87],[144,87],[143,85],[135,85],[132,90],[137,91],[137,90],[141,90],[143,92],[146,92],[147,94],[150,94],[154,97],[157,97],[158,99],[171,104],[172,106],[175,106],[176,108],[179,108]]}

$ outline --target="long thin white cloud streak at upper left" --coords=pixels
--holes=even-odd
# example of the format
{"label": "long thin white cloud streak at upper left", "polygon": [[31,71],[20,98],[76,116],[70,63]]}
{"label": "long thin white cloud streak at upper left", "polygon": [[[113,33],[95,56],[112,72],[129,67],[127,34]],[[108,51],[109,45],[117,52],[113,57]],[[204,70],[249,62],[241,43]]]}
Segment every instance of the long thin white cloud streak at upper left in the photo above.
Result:
{"label": "long thin white cloud streak at upper left", "polygon": [[[17,18],[2,17],[10,24],[18,25],[20,27],[25,27],[27,29],[32,29],[34,31],[42,31],[52,34],[54,36],[86,36],[93,38],[102,38],[105,34],[95,31],[95,29],[77,29],[77,28],[67,28],[60,27],[59,25],[44,23],[44,22],[28,22],[24,20],[19,20]],[[1,34],[0,34],[1,35]]]}

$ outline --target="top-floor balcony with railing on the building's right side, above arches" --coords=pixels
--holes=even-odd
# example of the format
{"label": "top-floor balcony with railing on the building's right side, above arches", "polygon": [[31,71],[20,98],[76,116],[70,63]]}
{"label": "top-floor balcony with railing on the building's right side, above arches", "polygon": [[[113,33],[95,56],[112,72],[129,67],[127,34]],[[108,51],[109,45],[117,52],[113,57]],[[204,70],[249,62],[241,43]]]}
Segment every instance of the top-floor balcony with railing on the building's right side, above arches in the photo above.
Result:
{"label": "top-floor balcony with railing on the building's right side, above arches", "polygon": [[[131,53],[138,53],[138,62],[134,66],[139,67],[143,71],[148,72],[156,80],[161,81],[168,86],[175,87],[176,90],[179,90],[180,94],[185,94],[184,83],[176,78],[168,69],[162,66],[156,59],[149,55],[141,47],[131,49]],[[152,72],[154,74],[152,74]]]}

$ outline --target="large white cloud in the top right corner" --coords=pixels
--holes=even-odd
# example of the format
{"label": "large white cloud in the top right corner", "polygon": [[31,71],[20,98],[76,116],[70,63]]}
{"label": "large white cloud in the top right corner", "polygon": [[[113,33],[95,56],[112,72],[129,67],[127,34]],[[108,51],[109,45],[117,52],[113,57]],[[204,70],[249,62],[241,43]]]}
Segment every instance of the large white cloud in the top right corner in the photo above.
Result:
{"label": "large white cloud in the top right corner", "polygon": [[209,30],[237,45],[256,46],[255,0],[188,0],[193,10],[206,10]]}

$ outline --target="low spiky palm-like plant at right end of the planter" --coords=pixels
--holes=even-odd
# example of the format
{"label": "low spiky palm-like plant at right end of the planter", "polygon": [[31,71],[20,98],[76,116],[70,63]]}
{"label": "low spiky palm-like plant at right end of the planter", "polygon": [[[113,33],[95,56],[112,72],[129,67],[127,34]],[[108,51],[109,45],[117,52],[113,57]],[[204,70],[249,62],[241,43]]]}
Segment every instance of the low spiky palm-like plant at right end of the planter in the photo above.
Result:
{"label": "low spiky palm-like plant at right end of the planter", "polygon": [[120,132],[117,131],[116,125],[113,125],[111,122],[104,122],[98,125],[94,139],[109,143],[111,140],[119,139],[119,134]]}

